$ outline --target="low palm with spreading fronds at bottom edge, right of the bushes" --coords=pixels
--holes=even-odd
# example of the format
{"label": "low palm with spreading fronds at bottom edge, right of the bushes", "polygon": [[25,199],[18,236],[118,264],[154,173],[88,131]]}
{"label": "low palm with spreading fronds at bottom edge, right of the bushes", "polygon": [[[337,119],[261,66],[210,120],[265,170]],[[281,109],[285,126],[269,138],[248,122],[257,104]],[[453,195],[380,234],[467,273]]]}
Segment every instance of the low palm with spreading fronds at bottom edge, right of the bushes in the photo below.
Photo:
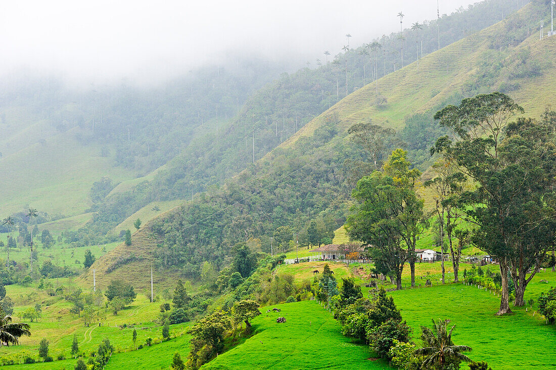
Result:
{"label": "low palm with spreading fronds at bottom edge, right of the bushes", "polygon": [[433,328],[421,326],[421,339],[423,340],[423,347],[418,348],[415,354],[425,357],[423,366],[433,366],[436,369],[444,370],[446,366],[453,362],[469,362],[471,359],[465,356],[462,352],[471,351],[469,346],[454,346],[451,340],[451,334],[454,331],[455,325],[446,330],[446,324],[450,320],[438,320],[435,322],[433,319]]}

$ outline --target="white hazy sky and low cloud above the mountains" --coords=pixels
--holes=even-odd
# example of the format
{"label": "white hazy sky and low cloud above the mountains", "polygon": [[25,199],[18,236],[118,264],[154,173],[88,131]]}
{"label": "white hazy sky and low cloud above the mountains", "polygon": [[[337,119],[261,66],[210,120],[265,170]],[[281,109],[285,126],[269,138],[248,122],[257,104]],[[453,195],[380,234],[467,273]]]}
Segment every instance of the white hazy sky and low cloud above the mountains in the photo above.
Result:
{"label": "white hazy sky and low cloud above the mountains", "polygon": [[[440,0],[451,13],[476,0]],[[311,61],[346,44],[436,18],[436,0],[0,2],[0,74],[21,69],[86,82],[160,81],[226,52]]]}

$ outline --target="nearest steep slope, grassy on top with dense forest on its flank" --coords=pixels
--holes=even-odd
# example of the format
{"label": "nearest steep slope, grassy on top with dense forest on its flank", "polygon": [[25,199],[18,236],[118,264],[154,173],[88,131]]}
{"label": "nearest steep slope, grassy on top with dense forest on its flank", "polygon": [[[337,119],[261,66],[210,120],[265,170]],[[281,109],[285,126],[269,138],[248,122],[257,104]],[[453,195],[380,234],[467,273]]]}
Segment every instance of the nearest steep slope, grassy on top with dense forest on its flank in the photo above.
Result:
{"label": "nearest steep slope, grassy on top with dense forest on its flank", "polygon": [[[507,86],[512,91],[506,91],[528,108],[526,115],[538,116],[556,99],[556,91],[548,88],[556,76],[556,66],[550,62],[556,57],[556,37],[540,42],[535,36],[527,37],[537,11],[534,5],[528,6],[507,21],[426,56],[419,69],[413,63],[381,78],[379,93],[388,101],[385,106],[376,107],[373,83],[352,93],[225,186],[200,194],[143,226],[133,234],[131,248],[122,245],[100,258],[97,272],[120,261],[120,268],[105,270],[106,279],[116,276],[120,269],[130,274],[134,270],[131,255],[145,259],[152,251],[157,275],[181,267],[185,277],[195,278],[205,261],[217,268],[224,266],[232,246],[245,241],[246,234],[260,239],[260,248],[269,251],[270,236],[279,226],[289,225],[302,235],[307,223],[316,218],[341,225],[351,192],[346,184],[349,168],[344,161],[361,155],[347,140],[347,128],[356,122],[371,119],[403,127],[403,131],[410,126],[411,114],[432,114],[446,103]],[[503,50],[493,49],[492,34],[512,32],[522,35],[520,42]],[[528,57],[520,59],[523,53]],[[489,58],[493,55],[498,60],[517,62],[486,73],[485,68],[492,67]],[[439,63],[444,60],[450,61],[448,68],[446,62]],[[532,64],[543,68],[538,70]],[[530,94],[539,86],[543,89],[540,98]],[[408,126],[404,126],[406,122]],[[433,121],[429,124],[435,125]],[[146,238],[151,232],[156,240]],[[146,277],[137,271],[133,279]]]}

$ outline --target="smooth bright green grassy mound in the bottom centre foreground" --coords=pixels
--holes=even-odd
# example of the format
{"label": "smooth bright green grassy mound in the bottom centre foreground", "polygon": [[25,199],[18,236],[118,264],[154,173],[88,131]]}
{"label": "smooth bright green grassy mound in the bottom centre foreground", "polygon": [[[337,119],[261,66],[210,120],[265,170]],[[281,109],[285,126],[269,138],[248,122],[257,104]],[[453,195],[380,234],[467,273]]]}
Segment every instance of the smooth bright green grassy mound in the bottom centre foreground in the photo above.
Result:
{"label": "smooth bright green grassy mound in the bottom centre foreground", "polygon": [[[221,369],[369,369],[389,368],[369,348],[340,333],[332,314],[315,301],[274,305],[279,313],[253,320],[256,334],[202,367]],[[276,323],[277,317],[286,318]],[[369,359],[373,358],[373,359]]]}

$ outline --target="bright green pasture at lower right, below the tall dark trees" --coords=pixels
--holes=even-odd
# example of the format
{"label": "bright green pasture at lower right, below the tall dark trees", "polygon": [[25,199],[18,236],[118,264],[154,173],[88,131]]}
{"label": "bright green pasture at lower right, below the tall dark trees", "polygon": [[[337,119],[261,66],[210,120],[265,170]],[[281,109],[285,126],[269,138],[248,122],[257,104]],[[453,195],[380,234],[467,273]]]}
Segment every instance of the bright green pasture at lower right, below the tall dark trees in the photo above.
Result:
{"label": "bright green pasture at lower right, below the tall dark trees", "polygon": [[[556,274],[552,279],[556,278]],[[533,293],[529,292],[529,295]],[[494,370],[553,369],[556,367],[556,328],[525,308],[512,308],[513,315],[497,317],[500,300],[495,295],[463,284],[392,292],[402,317],[414,329],[420,344],[420,325],[431,319],[450,319],[456,325],[454,343],[473,348],[469,357],[486,361]],[[534,295],[534,294],[533,294]]]}

